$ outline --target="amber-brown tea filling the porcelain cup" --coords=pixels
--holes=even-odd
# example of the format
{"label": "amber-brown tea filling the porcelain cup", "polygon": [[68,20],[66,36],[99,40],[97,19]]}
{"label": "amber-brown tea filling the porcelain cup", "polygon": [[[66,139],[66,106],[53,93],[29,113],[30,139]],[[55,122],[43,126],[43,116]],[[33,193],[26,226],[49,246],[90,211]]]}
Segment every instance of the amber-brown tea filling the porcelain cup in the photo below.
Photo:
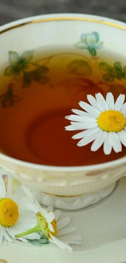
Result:
{"label": "amber-brown tea filling the porcelain cup", "polygon": [[[13,66],[13,60],[16,61]],[[111,91],[116,99],[126,93],[123,64],[114,56],[100,58],[71,50],[50,50],[20,56],[9,52],[9,63],[1,77],[0,147],[13,158],[43,165],[83,166],[123,157],[113,150],[110,155],[90,150],[91,144],[77,146],[66,131],[70,121],[64,117],[71,109],[80,109],[87,94]],[[115,64],[116,63],[116,64]]]}

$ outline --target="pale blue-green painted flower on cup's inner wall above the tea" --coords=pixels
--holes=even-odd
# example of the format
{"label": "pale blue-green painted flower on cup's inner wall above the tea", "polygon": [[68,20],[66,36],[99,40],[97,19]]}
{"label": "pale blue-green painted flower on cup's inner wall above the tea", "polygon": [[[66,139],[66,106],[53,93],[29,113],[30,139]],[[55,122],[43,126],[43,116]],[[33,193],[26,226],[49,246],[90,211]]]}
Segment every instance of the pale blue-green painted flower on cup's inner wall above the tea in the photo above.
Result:
{"label": "pale blue-green painted flower on cup's inner wall above the tea", "polygon": [[87,49],[90,55],[95,57],[97,50],[103,47],[103,42],[99,41],[98,32],[92,32],[91,34],[82,34],[80,41],[75,44],[75,47]]}

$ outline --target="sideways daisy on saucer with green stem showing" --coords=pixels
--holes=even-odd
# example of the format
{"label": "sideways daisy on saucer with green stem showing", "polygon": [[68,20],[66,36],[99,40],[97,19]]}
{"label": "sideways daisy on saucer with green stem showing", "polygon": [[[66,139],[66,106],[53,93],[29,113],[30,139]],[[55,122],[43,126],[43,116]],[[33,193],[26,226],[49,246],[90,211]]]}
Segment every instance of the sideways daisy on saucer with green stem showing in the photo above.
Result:
{"label": "sideways daisy on saucer with green stem showing", "polygon": [[52,207],[48,207],[47,209],[42,208],[25,186],[23,186],[23,189],[33,203],[33,209],[36,213],[37,225],[35,225],[35,227],[33,227],[32,229],[25,231],[24,233],[17,234],[15,236],[16,238],[35,232],[41,232],[42,235],[48,238],[51,243],[57,245],[61,249],[72,250],[72,247],[69,244],[81,244],[81,236],[66,235],[77,230],[77,227],[64,228],[70,222],[69,216],[57,222],[58,218],[61,215],[60,210],[56,210],[53,213]]}

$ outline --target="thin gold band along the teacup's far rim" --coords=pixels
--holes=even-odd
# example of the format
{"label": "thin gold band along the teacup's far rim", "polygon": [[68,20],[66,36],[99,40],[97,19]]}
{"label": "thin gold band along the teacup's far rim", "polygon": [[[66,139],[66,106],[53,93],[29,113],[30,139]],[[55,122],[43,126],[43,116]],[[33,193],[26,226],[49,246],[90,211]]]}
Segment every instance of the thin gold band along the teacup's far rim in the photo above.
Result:
{"label": "thin gold band along the teacup's far rim", "polygon": [[85,22],[92,22],[92,23],[96,23],[96,24],[103,24],[103,25],[108,25],[108,26],[112,26],[112,27],[116,27],[118,29],[123,29],[126,30],[126,27],[118,25],[118,24],[114,24],[111,22],[107,22],[107,21],[101,21],[101,20],[97,20],[97,19],[92,19],[92,18],[81,18],[81,17],[54,17],[54,18],[42,18],[42,19],[38,19],[38,20],[33,20],[33,21],[29,21],[23,24],[19,24],[19,25],[15,25],[12,26],[10,28],[4,29],[0,32],[0,34],[3,34],[9,30],[12,29],[16,29],[18,27],[23,27],[25,25],[28,24],[36,24],[36,23],[42,23],[42,22],[52,22],[52,21],[85,21]]}

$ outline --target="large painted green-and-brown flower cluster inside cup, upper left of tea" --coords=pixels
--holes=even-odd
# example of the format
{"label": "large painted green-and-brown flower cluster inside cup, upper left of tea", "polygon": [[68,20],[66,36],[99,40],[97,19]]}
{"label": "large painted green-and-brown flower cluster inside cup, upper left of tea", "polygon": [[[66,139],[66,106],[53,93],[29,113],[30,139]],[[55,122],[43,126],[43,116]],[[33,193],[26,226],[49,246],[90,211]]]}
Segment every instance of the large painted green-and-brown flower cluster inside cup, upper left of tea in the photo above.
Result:
{"label": "large painted green-and-brown flower cluster inside cup, upper left of tea", "polygon": [[42,85],[49,82],[49,78],[44,76],[49,68],[31,62],[33,53],[33,50],[28,50],[19,56],[17,52],[9,51],[10,66],[5,69],[4,75],[13,76],[16,82],[23,81],[23,88],[28,88],[32,81]]}

